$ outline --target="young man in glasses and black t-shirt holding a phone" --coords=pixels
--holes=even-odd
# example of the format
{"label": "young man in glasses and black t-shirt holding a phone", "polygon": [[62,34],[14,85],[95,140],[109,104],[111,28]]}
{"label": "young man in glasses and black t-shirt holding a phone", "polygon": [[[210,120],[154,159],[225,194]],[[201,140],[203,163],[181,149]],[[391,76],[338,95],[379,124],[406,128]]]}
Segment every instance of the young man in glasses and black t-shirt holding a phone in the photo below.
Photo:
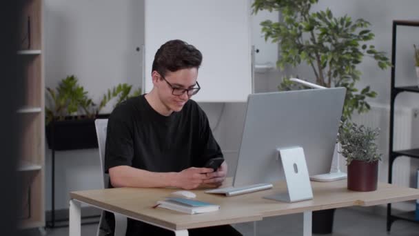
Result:
{"label": "young man in glasses and black t-shirt holding a phone", "polygon": [[[123,102],[108,121],[105,172],[110,187],[194,189],[220,186],[227,175],[203,168],[223,157],[205,112],[190,98],[200,86],[202,55],[181,40],[167,41],[154,56],[150,93]],[[107,222],[112,228],[111,214]],[[109,220],[109,221],[108,221]],[[128,219],[126,235],[174,235],[170,230]],[[241,235],[232,226],[190,230],[190,235]]]}

